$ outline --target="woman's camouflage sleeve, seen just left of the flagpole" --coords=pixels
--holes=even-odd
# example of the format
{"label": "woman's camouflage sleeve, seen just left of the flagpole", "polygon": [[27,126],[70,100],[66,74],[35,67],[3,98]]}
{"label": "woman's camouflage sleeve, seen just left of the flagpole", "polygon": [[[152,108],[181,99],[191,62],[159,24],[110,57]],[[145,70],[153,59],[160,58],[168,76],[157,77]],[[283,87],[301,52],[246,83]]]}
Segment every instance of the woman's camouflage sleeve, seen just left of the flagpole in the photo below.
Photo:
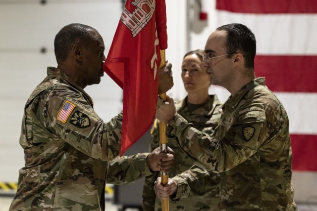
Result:
{"label": "woman's camouflage sleeve, seen just left of the flagpole", "polygon": [[[154,121],[153,127],[151,128],[151,140],[149,150],[152,152],[154,149],[159,147],[159,121]],[[155,176],[148,177],[144,181],[143,193],[142,193],[142,206],[145,211],[154,211],[156,195],[154,192],[154,182],[159,177],[159,171],[156,172]]]}

